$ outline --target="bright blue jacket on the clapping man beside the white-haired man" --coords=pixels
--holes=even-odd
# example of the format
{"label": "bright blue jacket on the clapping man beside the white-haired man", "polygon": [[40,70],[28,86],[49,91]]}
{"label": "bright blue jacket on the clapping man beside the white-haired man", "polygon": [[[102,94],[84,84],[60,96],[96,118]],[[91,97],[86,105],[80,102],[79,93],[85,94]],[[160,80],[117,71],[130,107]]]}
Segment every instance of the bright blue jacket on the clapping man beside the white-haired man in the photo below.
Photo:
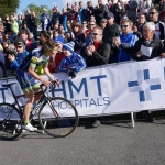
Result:
{"label": "bright blue jacket on the clapping man beside the white-haired man", "polygon": [[[133,33],[129,33],[128,35],[123,35],[123,34],[120,35],[120,41],[121,41],[122,45],[124,45],[125,47],[134,46],[134,44],[138,40],[139,40],[139,37]],[[118,47],[118,48],[119,48],[118,62],[131,61],[130,54],[124,52],[121,47]]]}

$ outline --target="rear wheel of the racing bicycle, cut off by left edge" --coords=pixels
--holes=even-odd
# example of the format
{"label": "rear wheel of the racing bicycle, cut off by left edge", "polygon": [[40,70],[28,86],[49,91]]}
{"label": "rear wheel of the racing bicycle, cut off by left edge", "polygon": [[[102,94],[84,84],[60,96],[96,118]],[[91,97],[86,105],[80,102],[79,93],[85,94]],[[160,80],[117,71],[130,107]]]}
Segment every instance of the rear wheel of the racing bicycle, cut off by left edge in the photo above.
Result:
{"label": "rear wheel of the racing bicycle, cut off by left edge", "polygon": [[11,103],[0,103],[0,138],[14,140],[22,132],[22,119],[19,109]]}

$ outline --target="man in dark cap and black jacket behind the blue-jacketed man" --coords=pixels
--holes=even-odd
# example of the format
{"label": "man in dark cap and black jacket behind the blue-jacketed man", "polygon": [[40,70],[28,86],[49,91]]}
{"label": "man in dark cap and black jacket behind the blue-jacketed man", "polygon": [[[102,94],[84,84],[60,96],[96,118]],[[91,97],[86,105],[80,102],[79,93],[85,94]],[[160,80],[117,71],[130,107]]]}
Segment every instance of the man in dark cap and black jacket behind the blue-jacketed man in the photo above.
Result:
{"label": "man in dark cap and black jacket behind the blue-jacketed man", "polygon": [[112,47],[112,38],[121,34],[121,29],[114,23],[114,14],[109,12],[107,15],[107,26],[103,29],[102,41],[109,43],[111,47],[109,63],[117,63],[117,50]]}

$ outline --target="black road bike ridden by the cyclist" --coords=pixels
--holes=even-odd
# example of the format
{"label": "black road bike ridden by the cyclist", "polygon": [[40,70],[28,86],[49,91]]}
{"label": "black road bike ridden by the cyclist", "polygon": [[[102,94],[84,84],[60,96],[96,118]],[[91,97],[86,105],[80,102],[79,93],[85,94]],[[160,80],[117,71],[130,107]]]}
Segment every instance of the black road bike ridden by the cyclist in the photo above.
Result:
{"label": "black road bike ridden by the cyclist", "polygon": [[[0,103],[0,138],[3,140],[16,139],[22,133],[24,122],[23,106],[19,103],[18,99],[25,96],[14,95],[12,89],[14,84],[16,82],[1,85],[9,88],[14,98],[13,103]],[[52,98],[48,92],[47,87],[44,85],[41,85],[41,91],[34,92],[34,95],[41,95],[41,99],[31,110],[30,122],[32,119],[38,120],[43,132],[53,138],[65,138],[73,133],[78,124],[77,109],[69,100],[62,97]]]}

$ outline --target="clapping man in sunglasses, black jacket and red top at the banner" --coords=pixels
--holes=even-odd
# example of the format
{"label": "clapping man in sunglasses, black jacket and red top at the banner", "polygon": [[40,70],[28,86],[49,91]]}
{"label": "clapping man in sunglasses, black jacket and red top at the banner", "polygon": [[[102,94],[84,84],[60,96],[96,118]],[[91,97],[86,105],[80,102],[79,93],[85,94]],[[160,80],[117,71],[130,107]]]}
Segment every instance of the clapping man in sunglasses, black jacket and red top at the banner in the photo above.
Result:
{"label": "clapping man in sunglasses, black jacket and red top at the banner", "polygon": [[[87,47],[87,67],[108,64],[110,56],[110,45],[102,41],[102,29],[95,26],[91,31],[94,44]],[[92,127],[101,124],[100,118],[95,119]]]}

